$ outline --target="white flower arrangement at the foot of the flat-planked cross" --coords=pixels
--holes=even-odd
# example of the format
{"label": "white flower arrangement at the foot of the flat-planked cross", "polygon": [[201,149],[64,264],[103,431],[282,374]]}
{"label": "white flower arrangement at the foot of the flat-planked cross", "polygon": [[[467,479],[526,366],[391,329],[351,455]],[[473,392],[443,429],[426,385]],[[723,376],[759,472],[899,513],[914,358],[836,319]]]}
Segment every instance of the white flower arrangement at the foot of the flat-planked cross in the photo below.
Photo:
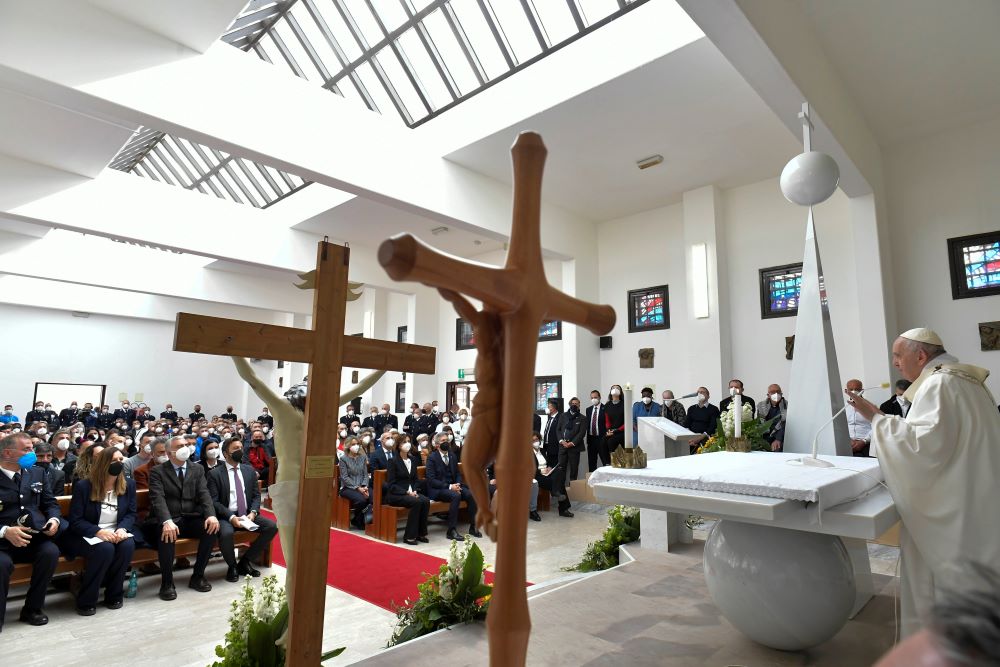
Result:
{"label": "white flower arrangement at the foot of the flat-planked cross", "polygon": [[[259,590],[247,577],[240,596],[233,600],[229,612],[229,632],[223,645],[215,647],[221,662],[211,667],[281,667],[285,664],[285,649],[275,642],[288,627],[288,600],[285,589],[273,574],[261,581]],[[340,655],[344,648],[320,656],[320,662]]]}

